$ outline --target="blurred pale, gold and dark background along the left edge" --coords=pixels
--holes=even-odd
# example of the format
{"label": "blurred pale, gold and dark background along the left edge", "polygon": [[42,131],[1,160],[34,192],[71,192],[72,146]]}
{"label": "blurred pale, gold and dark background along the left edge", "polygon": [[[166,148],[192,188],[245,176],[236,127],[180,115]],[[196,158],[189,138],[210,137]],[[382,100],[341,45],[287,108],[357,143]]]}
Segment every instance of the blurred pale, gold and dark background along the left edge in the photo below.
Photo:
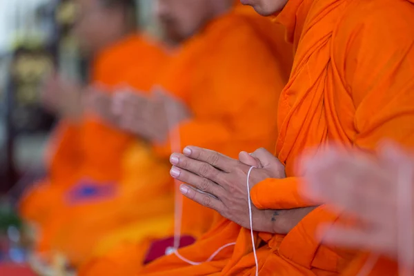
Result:
{"label": "blurred pale, gold and dark background along the left edge", "polygon": [[[157,35],[153,3],[137,0],[137,25]],[[88,79],[88,61],[71,30],[74,18],[72,0],[0,0],[0,275],[11,275],[6,263],[24,263],[12,205],[43,174],[43,149],[55,122],[41,106],[43,78],[59,68],[72,79]]]}

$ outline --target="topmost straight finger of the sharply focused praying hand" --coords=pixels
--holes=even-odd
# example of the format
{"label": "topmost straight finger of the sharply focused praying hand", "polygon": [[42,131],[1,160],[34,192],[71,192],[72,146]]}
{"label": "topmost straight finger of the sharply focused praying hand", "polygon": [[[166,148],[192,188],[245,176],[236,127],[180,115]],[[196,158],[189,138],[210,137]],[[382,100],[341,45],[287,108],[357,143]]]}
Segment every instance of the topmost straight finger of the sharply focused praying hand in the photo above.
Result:
{"label": "topmost straight finger of the sharply focused praying hand", "polygon": [[183,153],[186,157],[210,164],[210,166],[219,168],[224,172],[231,172],[238,164],[238,161],[235,159],[213,150],[206,150],[205,148],[188,146],[184,148]]}

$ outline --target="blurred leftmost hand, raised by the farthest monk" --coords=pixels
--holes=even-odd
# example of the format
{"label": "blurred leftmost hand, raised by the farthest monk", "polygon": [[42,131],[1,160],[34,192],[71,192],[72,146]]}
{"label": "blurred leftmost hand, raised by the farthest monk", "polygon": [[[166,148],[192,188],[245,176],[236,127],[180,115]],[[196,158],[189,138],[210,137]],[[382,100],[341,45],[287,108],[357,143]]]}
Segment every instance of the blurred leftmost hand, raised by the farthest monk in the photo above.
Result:
{"label": "blurred leftmost hand, raised by the farthest monk", "polygon": [[81,86],[55,74],[46,80],[41,92],[44,108],[70,121],[79,121],[83,116],[83,94]]}

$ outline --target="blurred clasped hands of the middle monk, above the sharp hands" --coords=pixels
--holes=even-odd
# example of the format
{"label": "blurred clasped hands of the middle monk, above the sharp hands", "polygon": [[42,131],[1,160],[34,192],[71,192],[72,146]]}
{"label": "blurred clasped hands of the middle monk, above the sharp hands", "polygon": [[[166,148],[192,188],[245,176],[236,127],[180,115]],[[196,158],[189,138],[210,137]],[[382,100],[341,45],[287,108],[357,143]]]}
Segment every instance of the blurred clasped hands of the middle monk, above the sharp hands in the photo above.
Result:
{"label": "blurred clasped hands of the middle monk, above the sharp hands", "polygon": [[119,126],[144,139],[164,143],[170,128],[188,118],[184,103],[164,92],[150,97],[132,90],[115,93],[112,111],[119,117]]}

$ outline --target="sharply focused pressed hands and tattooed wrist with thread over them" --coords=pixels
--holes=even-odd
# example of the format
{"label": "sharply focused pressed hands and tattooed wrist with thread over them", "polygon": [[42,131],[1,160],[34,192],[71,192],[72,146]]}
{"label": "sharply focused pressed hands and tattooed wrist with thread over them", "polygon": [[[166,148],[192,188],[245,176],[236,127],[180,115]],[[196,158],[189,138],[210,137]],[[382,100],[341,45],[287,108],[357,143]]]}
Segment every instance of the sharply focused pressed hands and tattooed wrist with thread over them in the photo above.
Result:
{"label": "sharply focused pressed hands and tattooed wrist with thread over them", "polygon": [[[259,149],[251,157],[253,160],[246,160],[247,164],[243,164],[218,152],[187,147],[184,155],[171,155],[170,162],[174,166],[170,173],[177,180],[192,185],[181,185],[183,195],[217,210],[244,228],[250,228],[246,217],[248,193],[245,184],[250,166],[256,167],[250,175],[250,189],[259,181],[286,177],[284,166],[270,152]],[[253,206],[253,230],[287,234],[311,210],[313,208],[259,210]]]}

